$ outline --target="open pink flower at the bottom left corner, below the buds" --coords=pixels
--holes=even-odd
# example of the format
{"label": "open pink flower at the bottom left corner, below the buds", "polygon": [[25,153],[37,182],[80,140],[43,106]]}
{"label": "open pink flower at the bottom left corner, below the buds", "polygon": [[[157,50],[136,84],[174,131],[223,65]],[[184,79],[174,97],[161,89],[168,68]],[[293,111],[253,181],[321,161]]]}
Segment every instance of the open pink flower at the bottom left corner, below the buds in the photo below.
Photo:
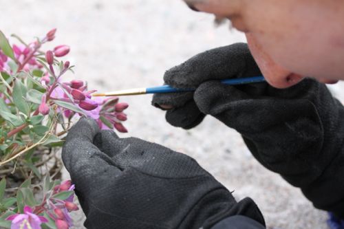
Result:
{"label": "open pink flower at the bottom left corner, below the buds", "polygon": [[47,223],[47,219],[32,213],[32,208],[24,207],[24,214],[14,214],[6,220],[12,221],[11,229],[41,229],[42,223]]}

